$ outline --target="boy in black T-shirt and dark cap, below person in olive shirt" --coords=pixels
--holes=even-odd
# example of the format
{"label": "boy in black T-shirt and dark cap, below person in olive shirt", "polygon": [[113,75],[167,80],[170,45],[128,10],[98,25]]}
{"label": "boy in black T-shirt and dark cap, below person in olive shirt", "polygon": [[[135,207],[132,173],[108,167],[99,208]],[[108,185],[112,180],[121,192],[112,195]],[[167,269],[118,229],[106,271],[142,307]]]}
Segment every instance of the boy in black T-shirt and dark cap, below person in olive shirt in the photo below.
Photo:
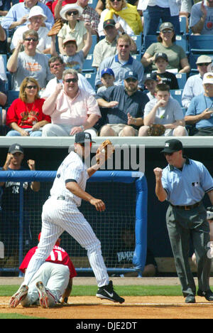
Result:
{"label": "boy in black T-shirt and dark cap, below person in olive shirt", "polygon": [[175,74],[168,72],[168,70],[165,70],[165,68],[167,68],[168,66],[168,56],[165,53],[155,54],[155,65],[158,68],[156,72],[158,81],[160,81],[161,79],[161,83],[169,85],[170,90],[179,89],[178,80]]}

